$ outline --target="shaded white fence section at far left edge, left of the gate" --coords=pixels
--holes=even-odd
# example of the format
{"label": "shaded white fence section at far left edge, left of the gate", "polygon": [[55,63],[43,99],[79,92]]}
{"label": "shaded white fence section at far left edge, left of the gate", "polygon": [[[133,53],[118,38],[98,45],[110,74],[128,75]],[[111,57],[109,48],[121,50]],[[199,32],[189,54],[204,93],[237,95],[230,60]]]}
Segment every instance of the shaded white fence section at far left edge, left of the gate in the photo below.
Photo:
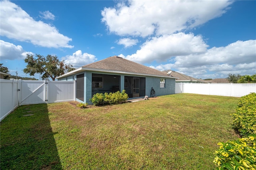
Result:
{"label": "shaded white fence section at far left edge, left of the gate", "polygon": [[0,79],[0,121],[18,107],[18,81]]}

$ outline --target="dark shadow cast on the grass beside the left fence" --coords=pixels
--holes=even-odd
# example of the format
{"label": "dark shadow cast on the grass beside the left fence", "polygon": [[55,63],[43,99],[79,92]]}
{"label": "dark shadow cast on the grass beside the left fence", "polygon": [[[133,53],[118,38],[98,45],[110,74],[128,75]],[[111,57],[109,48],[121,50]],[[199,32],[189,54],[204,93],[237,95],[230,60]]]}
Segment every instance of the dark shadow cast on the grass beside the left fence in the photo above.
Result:
{"label": "dark shadow cast on the grass beside the left fence", "polygon": [[54,134],[47,104],[18,107],[1,122],[1,169],[61,170]]}

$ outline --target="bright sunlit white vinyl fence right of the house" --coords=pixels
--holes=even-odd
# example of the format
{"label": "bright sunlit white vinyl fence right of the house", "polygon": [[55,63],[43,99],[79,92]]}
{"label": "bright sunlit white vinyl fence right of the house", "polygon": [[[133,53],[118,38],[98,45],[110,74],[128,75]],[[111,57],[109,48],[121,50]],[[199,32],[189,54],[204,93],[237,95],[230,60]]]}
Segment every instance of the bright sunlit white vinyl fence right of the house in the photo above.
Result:
{"label": "bright sunlit white vinyl fence right of the house", "polygon": [[252,92],[256,93],[256,84],[233,83],[176,83],[175,93],[194,93],[217,96],[242,97]]}

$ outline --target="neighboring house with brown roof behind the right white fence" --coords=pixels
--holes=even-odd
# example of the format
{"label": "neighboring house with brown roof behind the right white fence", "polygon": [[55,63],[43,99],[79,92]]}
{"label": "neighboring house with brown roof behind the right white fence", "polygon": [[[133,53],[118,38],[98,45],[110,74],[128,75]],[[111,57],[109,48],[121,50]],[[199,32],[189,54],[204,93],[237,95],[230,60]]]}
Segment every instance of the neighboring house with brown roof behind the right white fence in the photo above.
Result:
{"label": "neighboring house with brown roof behind the right white fence", "polygon": [[198,78],[193,78],[193,77],[187,76],[185,74],[181,74],[181,73],[173,71],[173,70],[168,70],[168,71],[163,71],[163,72],[165,72],[165,73],[169,72],[170,76],[176,77],[177,83],[208,83],[208,81],[198,79]]}

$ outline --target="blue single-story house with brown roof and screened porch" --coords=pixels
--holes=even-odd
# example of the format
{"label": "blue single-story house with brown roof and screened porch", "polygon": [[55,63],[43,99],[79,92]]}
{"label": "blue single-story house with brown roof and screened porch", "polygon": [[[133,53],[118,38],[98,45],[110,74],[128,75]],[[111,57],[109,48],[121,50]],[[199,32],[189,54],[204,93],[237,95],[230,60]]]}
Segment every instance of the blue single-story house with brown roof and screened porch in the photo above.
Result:
{"label": "blue single-story house with brown roof and screened porch", "polygon": [[96,93],[126,90],[129,98],[144,98],[150,96],[153,88],[157,96],[175,94],[176,77],[112,56],[77,68],[57,79],[76,80],[76,100],[91,104],[90,99]]}

